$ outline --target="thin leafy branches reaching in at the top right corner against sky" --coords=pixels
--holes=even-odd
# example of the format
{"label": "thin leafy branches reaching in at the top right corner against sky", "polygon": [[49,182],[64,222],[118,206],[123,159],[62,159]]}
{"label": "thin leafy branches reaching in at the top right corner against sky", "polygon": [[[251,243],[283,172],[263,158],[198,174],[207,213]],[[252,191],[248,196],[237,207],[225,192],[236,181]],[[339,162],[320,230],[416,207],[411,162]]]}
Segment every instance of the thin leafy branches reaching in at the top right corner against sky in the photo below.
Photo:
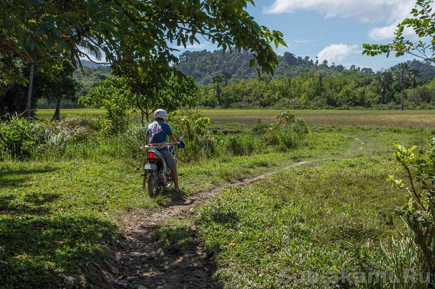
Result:
{"label": "thin leafy branches reaching in at the top right corner against sky", "polygon": [[[376,56],[386,53],[388,57],[393,51],[396,57],[408,53],[435,62],[435,13],[432,13],[432,3],[432,0],[417,0],[416,7],[410,12],[412,17],[404,19],[397,26],[396,36],[392,43],[386,45],[364,43],[362,54]],[[428,38],[431,41],[405,39],[403,36],[405,28],[414,30],[419,38]]]}

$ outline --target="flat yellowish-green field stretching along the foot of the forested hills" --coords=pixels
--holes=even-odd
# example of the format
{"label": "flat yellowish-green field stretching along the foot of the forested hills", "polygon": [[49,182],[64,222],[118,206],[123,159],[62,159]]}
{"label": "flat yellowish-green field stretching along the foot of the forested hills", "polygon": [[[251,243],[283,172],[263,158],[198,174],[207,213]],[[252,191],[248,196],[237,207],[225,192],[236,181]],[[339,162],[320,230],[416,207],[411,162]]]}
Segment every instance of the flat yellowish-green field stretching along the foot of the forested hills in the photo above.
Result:
{"label": "flat yellowish-green field stretching along the foot of the forested hills", "polygon": [[[246,128],[258,120],[273,122],[280,110],[274,109],[202,109],[201,113],[211,120],[212,127],[232,125]],[[377,125],[393,127],[435,127],[435,110],[289,110],[301,117],[308,125]],[[39,109],[39,118],[51,118],[54,109]],[[62,116],[103,116],[102,109],[62,109]]]}

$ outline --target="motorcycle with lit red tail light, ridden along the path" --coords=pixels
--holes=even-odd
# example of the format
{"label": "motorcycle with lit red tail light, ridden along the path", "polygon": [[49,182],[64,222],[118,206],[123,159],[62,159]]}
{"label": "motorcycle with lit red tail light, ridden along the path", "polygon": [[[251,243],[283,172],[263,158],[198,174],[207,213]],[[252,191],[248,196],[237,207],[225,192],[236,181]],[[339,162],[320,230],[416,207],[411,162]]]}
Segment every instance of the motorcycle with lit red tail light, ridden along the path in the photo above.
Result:
{"label": "motorcycle with lit red tail light, ridden along the path", "polygon": [[[183,141],[180,141],[178,147],[184,148]],[[147,145],[145,148],[148,151],[144,162],[143,187],[145,187],[146,184],[149,196],[156,197],[160,192],[172,186],[172,174],[163,154],[159,150],[151,145]],[[168,144],[167,148],[172,154],[172,157],[175,157],[175,145]]]}

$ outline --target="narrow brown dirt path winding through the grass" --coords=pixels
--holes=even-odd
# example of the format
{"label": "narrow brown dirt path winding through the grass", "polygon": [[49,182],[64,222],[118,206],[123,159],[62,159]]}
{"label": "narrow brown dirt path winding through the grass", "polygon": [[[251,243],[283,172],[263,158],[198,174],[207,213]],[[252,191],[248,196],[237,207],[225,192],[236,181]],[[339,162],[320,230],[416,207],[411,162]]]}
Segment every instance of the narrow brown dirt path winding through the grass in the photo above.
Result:
{"label": "narrow brown dirt path winding through the grass", "polygon": [[[175,199],[172,206],[159,208],[154,212],[131,213],[124,216],[122,223],[126,240],[123,248],[115,255],[115,278],[111,286],[105,288],[219,288],[213,279],[213,264],[201,248],[196,238],[196,228],[191,226],[193,242],[181,254],[165,255],[157,246],[155,231],[171,217],[189,218],[195,207],[201,205],[214,194],[228,187],[245,186],[265,179],[273,173],[288,170],[308,162],[272,171],[251,179],[220,186],[186,199]],[[193,223],[193,222],[191,222]]]}

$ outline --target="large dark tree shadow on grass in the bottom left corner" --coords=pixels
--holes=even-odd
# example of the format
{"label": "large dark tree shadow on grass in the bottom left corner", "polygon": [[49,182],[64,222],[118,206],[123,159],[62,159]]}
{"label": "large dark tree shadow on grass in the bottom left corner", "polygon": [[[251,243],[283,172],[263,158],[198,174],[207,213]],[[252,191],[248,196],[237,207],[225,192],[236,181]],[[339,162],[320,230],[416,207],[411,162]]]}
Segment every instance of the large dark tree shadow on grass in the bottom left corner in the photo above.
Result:
{"label": "large dark tree shadow on grass in the bottom left corner", "polygon": [[[102,247],[113,246],[117,227],[80,211],[49,209],[54,193],[0,197],[0,287],[88,287],[105,256]],[[94,270],[93,270],[94,269]]]}

